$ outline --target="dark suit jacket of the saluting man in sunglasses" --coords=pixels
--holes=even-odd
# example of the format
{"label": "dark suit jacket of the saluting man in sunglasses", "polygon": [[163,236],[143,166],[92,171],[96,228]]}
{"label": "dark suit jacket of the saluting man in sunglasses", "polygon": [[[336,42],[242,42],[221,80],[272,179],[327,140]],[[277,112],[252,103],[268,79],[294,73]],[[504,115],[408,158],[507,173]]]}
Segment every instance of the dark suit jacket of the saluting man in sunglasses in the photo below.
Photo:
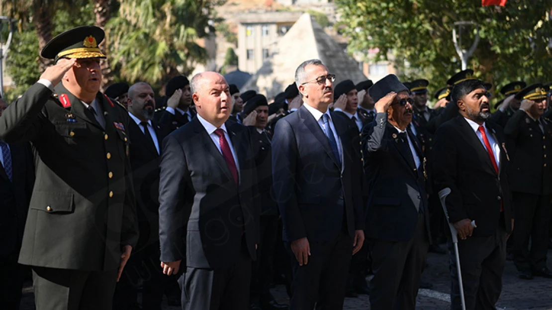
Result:
{"label": "dark suit jacket of the saluting man in sunglasses", "polygon": [[364,127],[362,149],[368,183],[367,236],[379,240],[405,242],[414,236],[418,210],[429,212],[424,177],[424,156],[420,142],[407,130],[416,148],[420,167],[415,167],[410,153],[401,147],[398,132],[387,121],[387,113],[378,113],[370,126]]}

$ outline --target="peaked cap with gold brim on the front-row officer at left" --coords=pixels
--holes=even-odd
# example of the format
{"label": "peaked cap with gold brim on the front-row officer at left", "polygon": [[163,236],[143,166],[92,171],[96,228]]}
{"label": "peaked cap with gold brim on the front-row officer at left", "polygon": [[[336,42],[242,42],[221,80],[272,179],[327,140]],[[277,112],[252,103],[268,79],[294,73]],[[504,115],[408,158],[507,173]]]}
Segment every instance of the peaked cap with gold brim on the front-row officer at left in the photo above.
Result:
{"label": "peaked cap with gold brim on the front-row officer at left", "polygon": [[105,58],[98,45],[103,41],[105,32],[97,26],[79,26],[50,40],[40,56],[46,59],[60,58]]}

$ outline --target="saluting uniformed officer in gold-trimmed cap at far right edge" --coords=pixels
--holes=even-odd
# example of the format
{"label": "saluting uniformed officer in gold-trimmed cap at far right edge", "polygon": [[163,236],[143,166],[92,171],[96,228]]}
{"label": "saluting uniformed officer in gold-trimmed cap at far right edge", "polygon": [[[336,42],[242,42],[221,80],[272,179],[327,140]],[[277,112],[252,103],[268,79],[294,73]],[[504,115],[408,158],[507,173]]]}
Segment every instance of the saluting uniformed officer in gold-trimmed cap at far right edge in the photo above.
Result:
{"label": "saluting uniformed officer in gold-trimmed cap at far right edge", "polygon": [[516,99],[521,107],[504,128],[512,142],[508,145],[512,160],[508,180],[516,210],[514,263],[521,279],[552,278],[546,267],[552,197],[552,123],[542,117],[546,90],[542,84],[529,85]]}

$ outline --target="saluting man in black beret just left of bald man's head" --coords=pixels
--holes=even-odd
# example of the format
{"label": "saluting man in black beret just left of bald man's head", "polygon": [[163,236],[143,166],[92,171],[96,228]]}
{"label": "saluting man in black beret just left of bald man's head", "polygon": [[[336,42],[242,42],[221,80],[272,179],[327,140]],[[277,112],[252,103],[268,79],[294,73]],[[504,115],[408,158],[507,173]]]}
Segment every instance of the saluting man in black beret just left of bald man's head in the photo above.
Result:
{"label": "saluting man in black beret just left of bald man's head", "polygon": [[190,82],[184,75],[177,75],[167,82],[165,88],[167,107],[160,110],[161,116],[158,123],[169,127],[171,132],[192,121],[195,116],[192,105],[192,93]]}

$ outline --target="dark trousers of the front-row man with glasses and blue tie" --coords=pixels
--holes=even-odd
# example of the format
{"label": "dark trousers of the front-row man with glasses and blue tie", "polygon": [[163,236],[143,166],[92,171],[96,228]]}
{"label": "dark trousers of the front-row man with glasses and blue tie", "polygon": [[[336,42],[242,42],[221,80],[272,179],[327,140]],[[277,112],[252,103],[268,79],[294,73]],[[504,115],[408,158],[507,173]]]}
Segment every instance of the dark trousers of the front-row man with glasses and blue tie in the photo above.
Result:
{"label": "dark trousers of the front-row man with glasses and blue tie", "polygon": [[285,247],[294,260],[291,282],[291,310],[333,310],[342,309],[345,299],[345,285],[349,274],[349,263],[353,254],[353,239],[344,232],[332,241],[310,242],[309,260],[299,266],[291,251],[291,244]]}

